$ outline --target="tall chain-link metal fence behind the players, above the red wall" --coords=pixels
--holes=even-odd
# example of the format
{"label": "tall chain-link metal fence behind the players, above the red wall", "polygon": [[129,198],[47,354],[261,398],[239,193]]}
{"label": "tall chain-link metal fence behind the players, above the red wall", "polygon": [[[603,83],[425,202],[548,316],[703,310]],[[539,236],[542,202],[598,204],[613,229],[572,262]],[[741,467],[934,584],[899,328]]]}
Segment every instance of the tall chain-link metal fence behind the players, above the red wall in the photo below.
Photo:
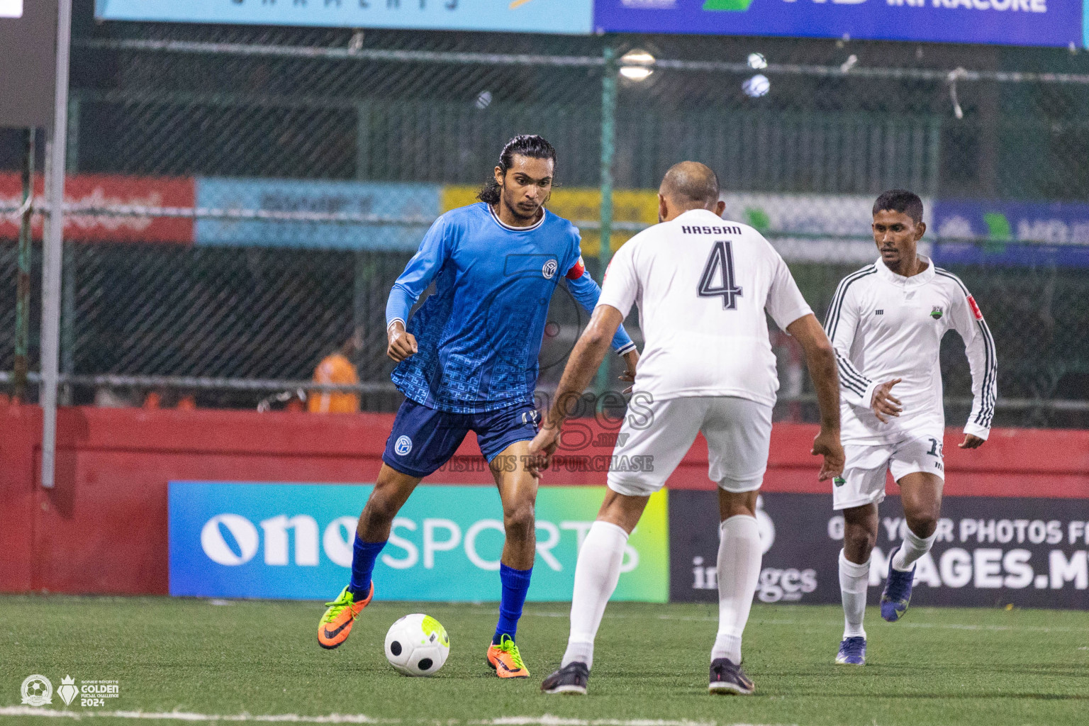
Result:
{"label": "tall chain-link metal fence behind the players, above the red wall", "polygon": [[[102,389],[138,403],[161,389],[196,392],[198,405],[253,406],[307,380],[358,328],[364,406],[395,406],[384,359],[389,288],[426,224],[472,200],[515,133],[558,147],[553,208],[579,222],[591,272],[653,222],[664,170],[697,159],[719,172],[730,213],[780,247],[821,313],[837,281],[874,257],[865,209],[885,188],[913,188],[930,204],[1069,209],[1089,198],[1086,53],[91,25],[78,22],[88,8],[77,4],[69,172],[136,181],[127,196],[70,199],[79,214],[65,242],[61,370],[72,403]],[[651,71],[643,79],[619,73],[636,48],[656,59],[641,61]],[[752,67],[752,52],[769,65]],[[743,90],[757,73],[770,82],[762,96]],[[19,163],[17,135],[0,132],[0,183]],[[189,180],[191,197],[164,199],[160,177]],[[351,182],[369,186],[337,186]],[[150,223],[167,219],[188,224],[189,238]],[[13,239],[4,220],[0,237]],[[963,232],[932,229],[928,239],[938,250]],[[1055,234],[996,223],[968,244],[995,250],[1055,243]],[[999,424],[1089,426],[1089,285],[1067,254],[1089,244],[1089,226],[1060,236],[1054,254],[1013,259],[999,249],[946,264],[994,331]],[[14,281],[14,245],[0,243],[0,280]],[[38,276],[36,267],[35,296]],[[552,317],[543,385],[585,321],[562,292]],[[0,285],[0,328],[14,330],[14,282]],[[12,368],[12,339],[0,334],[0,370]],[[957,345],[946,340],[942,354],[951,419],[967,410]],[[779,347],[780,415],[810,418],[790,344]],[[32,368],[35,360],[32,345]]]}

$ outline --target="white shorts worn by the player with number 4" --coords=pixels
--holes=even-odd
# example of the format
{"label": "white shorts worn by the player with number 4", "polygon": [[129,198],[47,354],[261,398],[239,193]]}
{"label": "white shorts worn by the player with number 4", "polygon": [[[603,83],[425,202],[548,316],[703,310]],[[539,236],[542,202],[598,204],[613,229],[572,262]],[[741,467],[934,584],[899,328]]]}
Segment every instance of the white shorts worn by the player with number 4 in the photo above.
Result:
{"label": "white shorts worn by the player with number 4", "polygon": [[629,496],[653,494],[700,432],[707,439],[711,481],[727,492],[760,489],[771,445],[771,406],[734,396],[689,396],[644,406],[650,408],[650,416],[624,417],[613,456],[616,462],[626,457],[650,466],[613,467],[609,489]]}

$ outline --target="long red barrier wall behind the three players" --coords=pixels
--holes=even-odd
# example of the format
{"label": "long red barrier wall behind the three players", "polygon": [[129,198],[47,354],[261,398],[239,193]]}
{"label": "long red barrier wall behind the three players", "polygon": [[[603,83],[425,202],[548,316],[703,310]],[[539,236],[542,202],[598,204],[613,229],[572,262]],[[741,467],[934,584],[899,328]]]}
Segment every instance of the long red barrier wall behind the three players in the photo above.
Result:
{"label": "long red barrier wall behind the three players", "polygon": [[[0,591],[166,594],[168,481],[374,481],[392,418],[62,409],[57,487],[44,490],[40,409],[0,407]],[[595,435],[603,432],[594,427]],[[775,426],[764,491],[829,491],[809,455],[815,434],[812,426]],[[957,443],[951,429],[949,496],[1089,497],[1089,431],[995,430],[975,452]],[[577,453],[608,456],[611,446]],[[428,481],[491,483],[479,456],[470,435],[455,466]],[[604,473],[549,471],[543,481],[602,484]],[[702,438],[669,485],[712,488]]]}

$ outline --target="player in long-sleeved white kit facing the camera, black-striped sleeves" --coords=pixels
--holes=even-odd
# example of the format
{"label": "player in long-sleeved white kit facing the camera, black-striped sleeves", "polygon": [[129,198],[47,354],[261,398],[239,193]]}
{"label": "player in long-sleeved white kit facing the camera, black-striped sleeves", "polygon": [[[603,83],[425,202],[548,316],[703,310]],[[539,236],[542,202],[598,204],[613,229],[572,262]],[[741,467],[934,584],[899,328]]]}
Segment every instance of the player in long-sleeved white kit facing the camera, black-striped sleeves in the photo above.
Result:
{"label": "player in long-sleeved white kit facing the camera, black-striped sleeves", "polygon": [[843,446],[847,462],[834,479],[834,508],[843,510],[840,590],[844,633],[836,663],[866,663],[866,588],[878,537],[885,472],[900,485],[907,529],[889,558],[881,617],[900,619],[911,599],[915,563],[930,551],[941,512],[942,376],[939,349],[946,331],[964,340],[971,368],[972,407],[960,448],[987,440],[994,415],[994,341],[964,283],[917,254],[927,230],[922,200],[885,192],[873,205],[873,241],[881,257],[840,283],[824,328],[840,366]]}

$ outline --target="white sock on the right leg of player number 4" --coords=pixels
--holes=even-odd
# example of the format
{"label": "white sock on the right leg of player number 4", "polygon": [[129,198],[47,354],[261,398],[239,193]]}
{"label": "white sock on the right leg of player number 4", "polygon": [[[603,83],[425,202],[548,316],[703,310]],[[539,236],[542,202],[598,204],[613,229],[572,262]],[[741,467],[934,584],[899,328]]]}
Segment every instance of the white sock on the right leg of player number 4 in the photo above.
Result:
{"label": "white sock on the right leg of player number 4", "polygon": [[719,635],[711,660],[742,662],[742,633],[760,578],[760,529],[756,517],[736,515],[719,527]]}

